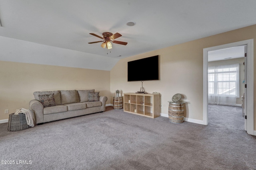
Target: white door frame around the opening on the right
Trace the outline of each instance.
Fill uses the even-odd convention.
[[[228,43],[224,45],[218,45],[214,47],[208,47],[203,49],[203,124],[208,125],[208,52],[218,49],[225,49],[230,47],[236,47],[240,45],[247,45],[247,57],[246,57],[246,78],[247,78],[247,133],[254,134],[254,74],[253,74],[253,39],[244,41],[238,41],[235,43]]]

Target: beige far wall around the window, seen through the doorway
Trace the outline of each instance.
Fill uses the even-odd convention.
[[[239,64],[239,94],[240,98],[236,98],[236,104],[242,104],[242,95],[244,94],[244,58],[228,59],[221,61],[208,62],[208,66],[220,66],[226,64]]]

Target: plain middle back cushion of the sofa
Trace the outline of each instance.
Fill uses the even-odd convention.
[[[61,104],[70,104],[80,102],[78,92],[76,90],[60,90]]]

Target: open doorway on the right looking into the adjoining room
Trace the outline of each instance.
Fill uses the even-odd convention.
[[[246,88],[245,45],[208,51],[208,121],[209,123],[236,122],[245,127],[242,96]],[[241,112],[241,113],[240,113]],[[219,117],[216,117],[218,115]],[[236,120],[237,119],[237,120]]]

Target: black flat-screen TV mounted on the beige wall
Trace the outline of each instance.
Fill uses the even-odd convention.
[[[128,62],[128,82],[159,80],[159,56]]]

